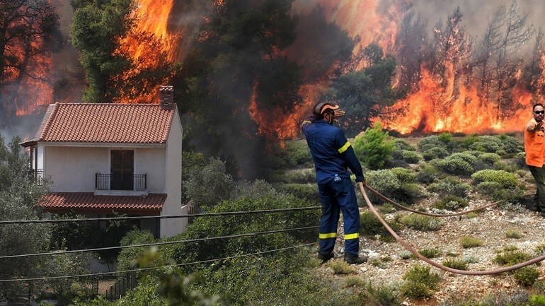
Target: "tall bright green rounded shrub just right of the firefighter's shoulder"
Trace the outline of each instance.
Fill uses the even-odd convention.
[[[354,151],[369,169],[377,170],[384,167],[386,160],[394,153],[394,141],[387,131],[382,131],[380,122],[372,128],[367,128],[365,134],[354,139]]]

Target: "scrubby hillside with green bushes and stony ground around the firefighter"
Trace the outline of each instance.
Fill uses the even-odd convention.
[[[352,140],[367,184],[400,204],[452,213],[507,199],[485,211],[435,218],[400,211],[368,192],[391,228],[420,254],[461,270],[497,269],[544,254],[542,217],[524,207],[535,189],[519,138],[445,133],[403,139],[379,128],[370,137],[369,131]],[[374,167],[376,159],[369,165],[365,157],[365,144],[377,139],[391,144],[384,146],[389,153],[377,153],[384,158],[380,168]],[[222,160],[185,153],[184,165],[190,165],[184,172],[185,194],[201,194],[188,201],[205,212],[287,211],[202,216],[168,240],[185,242],[152,252],[123,249],[120,269],[135,264],[159,268],[142,271],[136,290],[120,300],[74,305],[197,305],[199,300],[201,305],[545,305],[541,266],[494,276],[440,271],[395,242],[360,195],[360,251],[369,255],[369,262],[348,266],[342,261],[341,224],[336,258],[321,265],[316,259],[317,229],[312,228],[318,224],[319,208],[289,211],[319,206],[305,141],[287,141],[266,158],[265,180],[238,182],[226,174]],[[269,231],[274,233],[263,233]],[[223,238],[202,239],[207,237]],[[132,232],[124,243],[154,241]]]

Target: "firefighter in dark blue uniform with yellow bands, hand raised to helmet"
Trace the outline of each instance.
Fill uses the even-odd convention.
[[[322,203],[318,258],[322,262],[333,258],[339,213],[342,212],[345,261],[348,264],[362,264],[367,257],[358,256],[360,211],[348,168],[355,174],[356,182],[365,184],[365,177],[343,130],[333,126],[333,120],[344,114],[338,105],[320,102],[314,105],[313,115],[303,122],[302,130],[316,167],[316,182]]]

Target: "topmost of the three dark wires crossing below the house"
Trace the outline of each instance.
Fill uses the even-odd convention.
[[[308,211],[321,208],[321,206],[295,207],[295,208],[278,208],[278,209],[263,209],[260,211],[224,211],[219,213],[195,213],[195,214],[180,214],[180,215],[165,215],[165,216],[132,216],[132,217],[111,217],[111,218],[79,218],[79,219],[40,219],[40,220],[0,220],[2,224],[27,224],[27,223],[64,223],[64,222],[82,222],[82,221],[113,221],[113,220],[141,220],[141,219],[167,219],[167,218],[197,218],[211,216],[233,216],[246,215],[253,213],[281,213],[285,211]]]

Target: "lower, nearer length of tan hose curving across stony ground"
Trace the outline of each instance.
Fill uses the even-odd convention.
[[[545,255],[541,255],[539,257],[535,257],[535,258],[530,259],[528,261],[521,262],[520,264],[515,264],[515,265],[512,265],[512,266],[506,266],[506,267],[503,267],[503,268],[493,269],[493,270],[486,270],[486,271],[466,271],[466,270],[459,270],[459,269],[449,268],[448,266],[444,266],[444,265],[439,264],[439,263],[437,263],[435,261],[432,261],[431,259],[428,259],[428,257],[423,256],[414,247],[412,247],[410,244],[408,244],[408,242],[406,242],[401,237],[399,237],[399,235],[397,235],[397,233],[394,232],[394,230],[392,230],[390,228],[388,223],[386,223],[386,221],[380,216],[380,214],[374,208],[371,201],[369,201],[369,198],[367,197],[367,193],[365,193],[364,185],[362,184],[362,182],[359,182],[358,186],[360,187],[360,192],[362,192],[362,196],[365,199],[365,202],[367,203],[367,206],[372,211],[374,216],[377,217],[377,219],[380,221],[380,223],[384,226],[384,228],[386,228],[386,230],[388,230],[388,233],[390,233],[390,235],[392,235],[396,239],[396,241],[399,242],[399,244],[401,244],[403,247],[405,247],[415,257],[417,257],[418,259],[420,259],[422,261],[427,262],[428,264],[430,264],[432,266],[435,266],[435,268],[437,268],[437,269],[441,269],[443,271],[447,271],[447,272],[451,272],[451,273],[462,274],[462,275],[493,275],[493,274],[499,274],[499,273],[504,273],[504,272],[509,272],[509,271],[513,271],[513,270],[516,270],[516,269],[520,269],[520,268],[522,268],[524,266],[529,266],[531,264],[536,264],[537,262],[543,261],[545,259]],[[367,185],[365,185],[365,187],[368,188],[369,190],[371,190],[372,192],[374,192],[375,194],[379,195],[378,192],[374,191],[373,189],[371,189]],[[384,198],[386,198],[386,197],[384,196]],[[390,203],[392,203],[392,202],[390,202]],[[492,206],[492,205],[490,204],[489,206]],[[467,213],[467,212],[465,212],[465,213]],[[454,215],[450,215],[450,216],[454,216]]]

